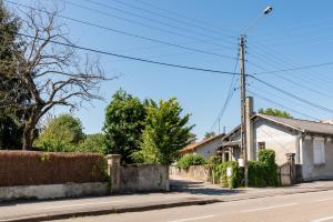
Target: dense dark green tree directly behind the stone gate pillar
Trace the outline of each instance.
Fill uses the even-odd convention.
[[[105,154],[121,154],[124,162],[133,162],[132,153],[140,149],[144,129],[145,105],[123,90],[113,94],[105,110]]]

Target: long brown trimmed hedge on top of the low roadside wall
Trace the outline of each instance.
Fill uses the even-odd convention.
[[[0,151],[0,186],[103,182],[105,170],[99,154]]]

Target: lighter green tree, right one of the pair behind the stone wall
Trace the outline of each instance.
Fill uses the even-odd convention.
[[[141,150],[133,154],[137,161],[170,164],[179,157],[179,151],[189,144],[194,127],[188,125],[190,114],[181,117],[181,113],[175,98],[148,108]]]

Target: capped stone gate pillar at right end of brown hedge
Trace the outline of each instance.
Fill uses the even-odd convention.
[[[111,193],[120,191],[120,154],[107,155],[108,161],[108,174],[111,178]]]

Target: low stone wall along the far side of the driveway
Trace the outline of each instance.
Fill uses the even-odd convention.
[[[180,176],[208,182],[211,180],[208,165],[191,165],[188,170],[170,167],[171,176]]]

